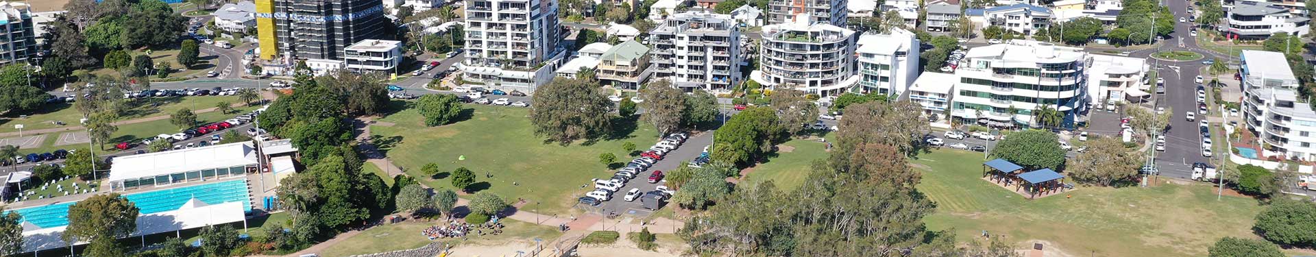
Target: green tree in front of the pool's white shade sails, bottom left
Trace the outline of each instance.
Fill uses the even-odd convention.
[[[137,229],[141,210],[117,192],[93,195],[68,206],[66,243],[91,241],[92,248],[118,249],[114,240]]]

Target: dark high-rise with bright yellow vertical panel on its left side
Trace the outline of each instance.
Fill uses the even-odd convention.
[[[384,40],[393,24],[379,0],[257,0],[263,59],[342,59],[363,40]]]

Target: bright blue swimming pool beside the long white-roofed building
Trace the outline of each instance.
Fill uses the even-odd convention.
[[[207,204],[241,202],[243,211],[251,211],[247,200],[247,185],[243,179],[229,179],[216,183],[175,187],[124,195],[133,202],[143,215],[174,211],[183,207],[188,199],[196,198]],[[68,206],[76,202],[13,210],[22,215],[21,221],[30,221],[42,228],[68,225]],[[5,212],[8,214],[8,212]]]

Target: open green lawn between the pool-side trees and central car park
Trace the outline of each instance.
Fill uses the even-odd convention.
[[[592,178],[607,178],[612,171],[599,162],[599,156],[612,153],[616,162],[626,162],[622,142],[647,145],[658,140],[650,125],[617,125],[624,138],[600,140],[567,146],[545,142],[534,136],[528,108],[467,104],[470,119],[442,127],[425,127],[416,109],[404,109],[378,120],[370,127],[380,152],[434,188],[454,188],[450,173],[467,167],[475,173],[475,191],[490,191],[509,202],[522,198],[542,203],[541,214],[565,214],[575,198],[584,194]],[[629,132],[629,133],[628,133]],[[465,161],[458,158],[465,156]],[[438,165],[438,177],[420,173],[425,163]],[[487,178],[486,174],[492,175]],[[517,183],[519,186],[513,186]],[[463,195],[465,196],[465,195]]]

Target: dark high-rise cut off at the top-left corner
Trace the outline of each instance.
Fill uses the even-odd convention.
[[[34,55],[36,32],[32,9],[25,3],[0,1],[0,65],[22,63]]]

